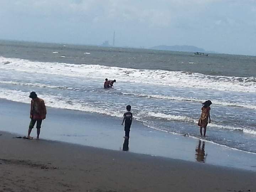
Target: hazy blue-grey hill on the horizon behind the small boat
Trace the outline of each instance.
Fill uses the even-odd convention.
[[[195,46],[165,46],[165,45],[161,45],[161,46],[154,46],[151,47],[150,49],[157,49],[157,50],[171,50],[171,51],[185,51],[185,52],[206,52],[204,49],[202,48],[198,48]]]

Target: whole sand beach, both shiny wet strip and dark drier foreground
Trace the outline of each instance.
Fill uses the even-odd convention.
[[[121,119],[49,107],[41,140],[15,138],[27,133],[29,105],[0,101],[1,192],[256,191],[254,154],[206,142],[198,155],[198,140],[138,122],[125,152]]]

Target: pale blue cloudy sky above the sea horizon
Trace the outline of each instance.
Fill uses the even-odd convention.
[[[0,39],[256,55],[256,0],[0,0]]]

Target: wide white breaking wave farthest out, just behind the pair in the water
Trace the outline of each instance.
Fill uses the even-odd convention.
[[[8,63],[10,62],[10,63]],[[155,85],[195,87],[226,91],[256,92],[255,77],[213,76],[200,73],[141,70],[110,67],[103,65],[76,65],[67,63],[32,62],[24,59],[0,57],[0,69],[26,71],[31,73],[58,74],[72,77],[102,79],[112,74],[123,82],[136,82]]]

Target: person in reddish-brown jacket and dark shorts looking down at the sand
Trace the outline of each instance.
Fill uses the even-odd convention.
[[[46,118],[46,106],[44,105],[44,100],[37,97],[36,92],[32,91],[29,96],[31,100],[31,107],[30,107],[30,125],[28,128],[28,139],[33,139],[33,137],[30,137],[30,133],[32,129],[34,128],[35,123],[37,123],[37,139],[39,139],[40,129],[42,120]]]

